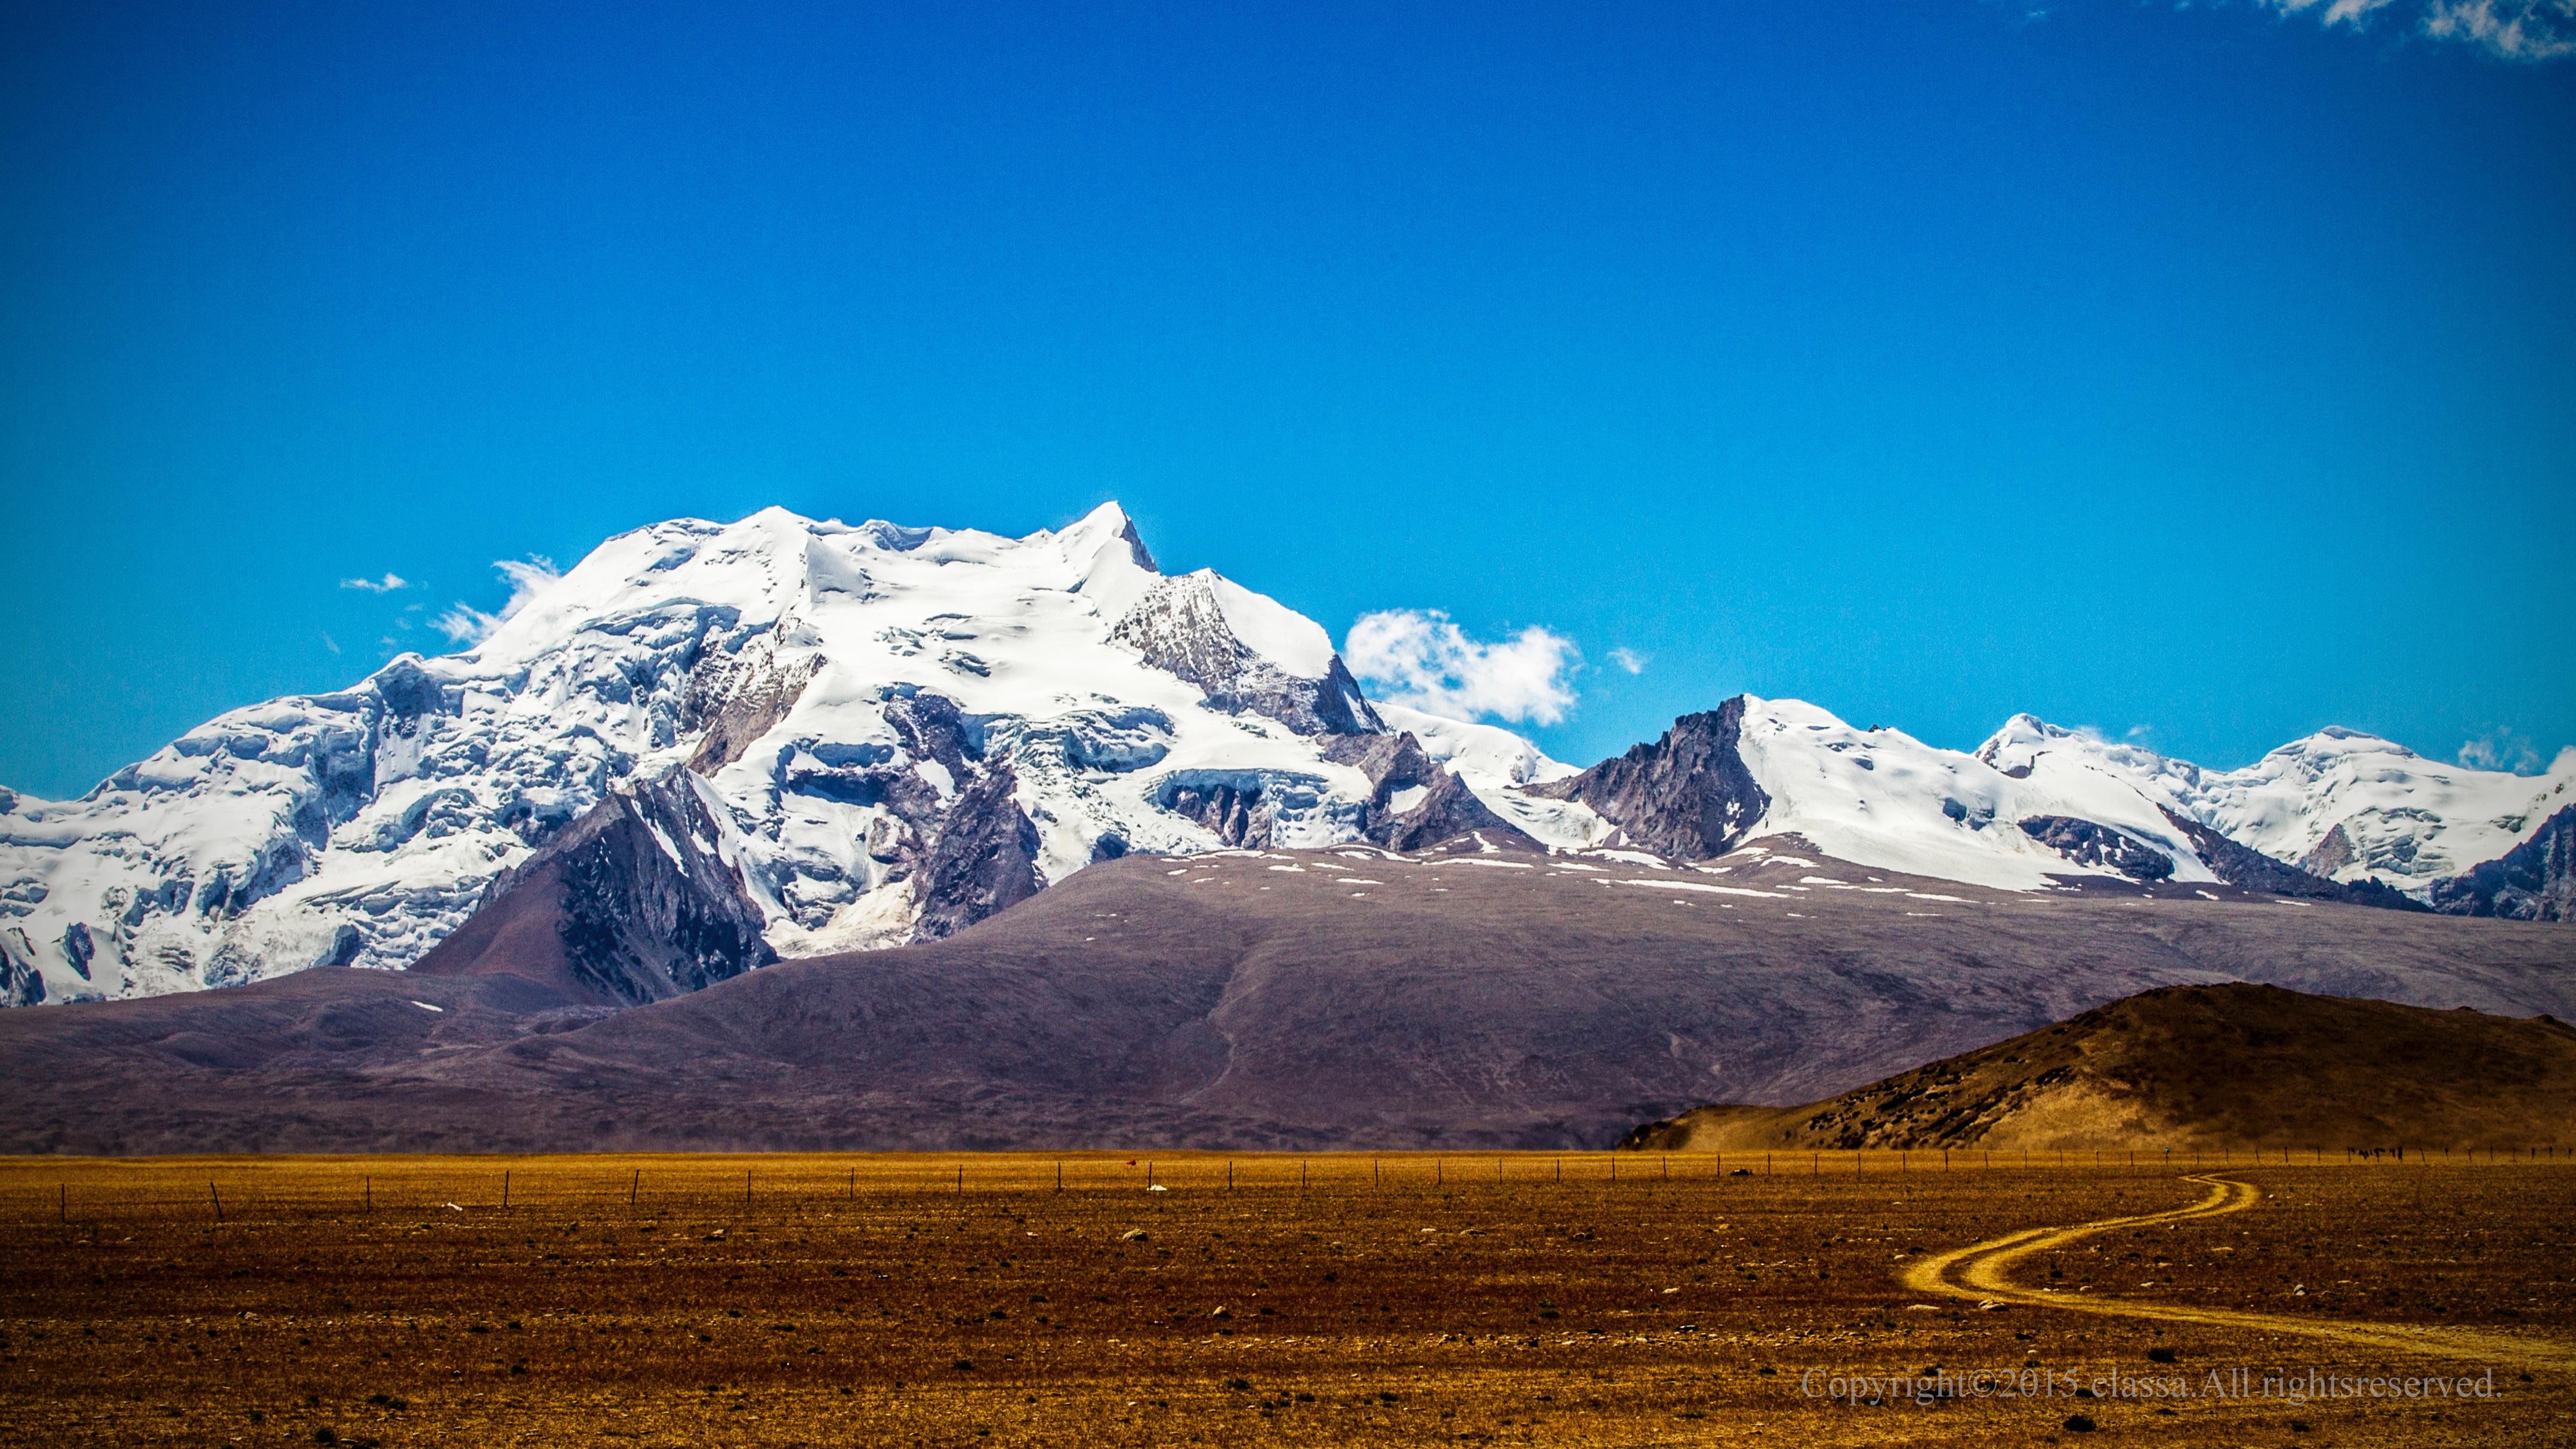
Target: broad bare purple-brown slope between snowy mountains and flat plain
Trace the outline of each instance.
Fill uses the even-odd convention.
[[[1728,874],[1471,843],[1126,856],[943,941],[631,1008],[484,941],[471,975],[0,1013],[0,1150],[1607,1145],[2159,985],[2576,1016],[2558,926],[1989,892],[1795,846]]]

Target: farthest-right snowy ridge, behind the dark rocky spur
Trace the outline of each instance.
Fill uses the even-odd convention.
[[[2066,789],[2120,781],[2272,859],[2414,895],[2509,853],[2576,804],[2576,750],[2561,750],[2548,773],[2517,776],[2427,761],[2357,730],[2321,730],[2239,771],[2205,771],[2014,714],[1976,755]]]

